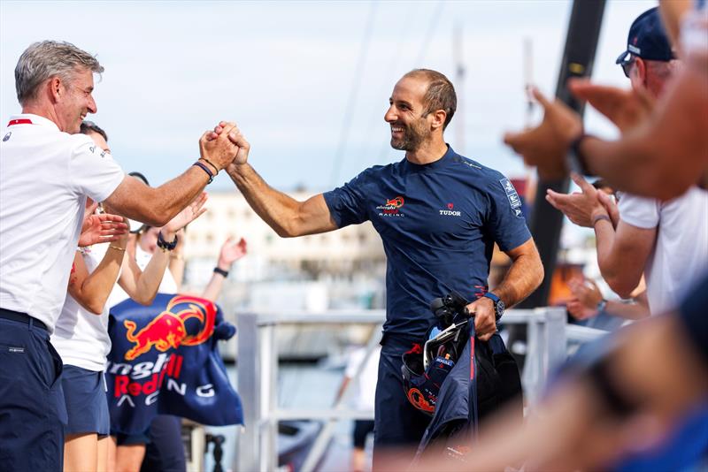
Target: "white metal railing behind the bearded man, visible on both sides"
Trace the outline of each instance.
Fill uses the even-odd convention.
[[[342,407],[346,391],[334,407],[317,410],[278,407],[278,346],[275,332],[282,324],[378,324],[384,310],[327,311],[312,313],[243,313],[238,324],[238,392],[243,403],[245,427],[237,435],[235,470],[270,472],[278,468],[278,422],[293,419],[326,421],[302,468],[311,472],[327,449],[334,424],[343,419],[373,419],[373,411],[361,412]],[[567,341],[587,342],[606,331],[566,324],[566,308],[511,309],[504,324],[527,324],[526,364],[521,376],[524,392],[531,403],[538,400],[548,374],[566,360]],[[366,357],[350,384],[357,381],[368,356],[381,338],[374,330]]]

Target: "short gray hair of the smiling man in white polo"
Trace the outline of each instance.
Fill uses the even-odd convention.
[[[15,67],[15,89],[19,103],[24,105],[27,100],[35,98],[42,82],[51,77],[71,81],[77,69],[104,72],[104,66],[98,63],[96,57],[71,42],[42,41],[30,44]]]

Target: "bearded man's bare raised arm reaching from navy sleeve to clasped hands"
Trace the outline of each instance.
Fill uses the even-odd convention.
[[[234,162],[227,167],[228,175],[241,190],[250,207],[279,236],[292,238],[337,229],[322,194],[298,202],[289,195],[275,190],[266,184],[258,172],[248,164],[250,144],[238,128],[228,132],[222,126],[217,126],[214,132],[219,133],[219,137],[228,134],[229,139],[239,148]]]

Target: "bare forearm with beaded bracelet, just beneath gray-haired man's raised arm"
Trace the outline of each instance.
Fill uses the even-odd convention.
[[[81,285],[70,286],[70,293],[74,300],[91,313],[101,315],[104,311],[105,303],[120,273],[120,265],[125,254],[124,246],[125,244],[121,245],[118,241],[112,243],[96,270],[91,272]]]

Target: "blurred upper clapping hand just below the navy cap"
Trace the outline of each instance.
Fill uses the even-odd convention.
[[[568,88],[609,118],[622,133],[642,123],[654,110],[655,100],[644,88],[628,90],[595,85],[589,80],[572,79]]]

